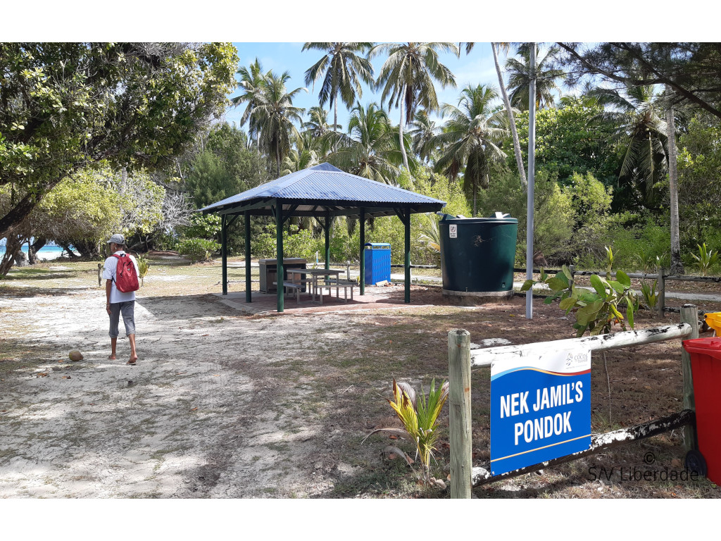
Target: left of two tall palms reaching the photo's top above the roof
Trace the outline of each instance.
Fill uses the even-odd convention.
[[[346,107],[363,97],[361,81],[373,84],[373,66],[365,55],[373,43],[309,42],[302,50],[322,50],[324,55],[306,70],[306,86],[323,79],[318,94],[320,106],[333,107],[333,126],[338,124],[338,97]],[[337,128],[334,128],[337,129]]]

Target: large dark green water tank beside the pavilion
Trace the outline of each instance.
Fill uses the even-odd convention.
[[[490,218],[445,214],[439,224],[446,296],[513,296],[518,220],[500,212]]]

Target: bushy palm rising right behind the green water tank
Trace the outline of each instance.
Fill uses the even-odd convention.
[[[473,193],[473,215],[477,211],[479,185],[488,183],[488,170],[494,160],[505,158],[499,144],[508,136],[508,117],[493,102],[498,93],[493,87],[468,85],[461,92],[459,107],[445,104],[441,110],[448,122],[433,142],[444,151],[435,161],[435,170],[455,178],[461,168],[466,193]]]

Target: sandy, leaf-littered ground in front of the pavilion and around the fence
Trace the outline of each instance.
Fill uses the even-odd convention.
[[[361,443],[373,428],[397,426],[384,400],[392,378],[417,388],[447,377],[454,327],[483,346],[572,335],[557,307],[534,304],[528,322],[523,298],[449,307],[438,289],[419,287],[416,306],[250,316],[211,293],[217,268],[195,265],[155,268],[146,278],[136,303],[140,360],[126,366],[125,339],[118,360],[107,359],[104,294],[85,266],[25,271],[0,284],[0,498],[447,497],[418,489],[404,462],[381,457],[399,442],[376,435]],[[198,290],[205,293],[187,294]],[[676,340],[609,353],[608,374],[594,364],[593,430],[609,429],[611,403],[612,428],[677,411],[680,347]],[[69,361],[73,349],[84,360]],[[489,459],[487,369],[474,372],[473,385],[480,464]],[[677,431],[474,493],[718,498],[708,481],[606,486],[588,477],[596,465],[640,465],[648,450],[681,467],[681,442]],[[448,448],[443,435],[436,475],[448,472]]]

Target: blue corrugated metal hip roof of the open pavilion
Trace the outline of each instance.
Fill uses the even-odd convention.
[[[200,210],[212,212],[242,208],[250,203],[271,199],[281,200],[283,203],[313,202],[315,206],[322,206],[324,202],[333,202],[335,203],[333,208],[336,209],[430,205],[437,206],[440,210],[446,204],[445,201],[351,175],[331,164],[323,163],[232,195]],[[268,201],[268,206],[270,204],[271,202]],[[322,209],[317,210],[322,211]]]

